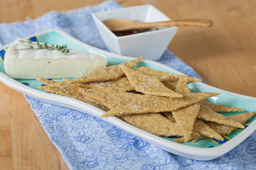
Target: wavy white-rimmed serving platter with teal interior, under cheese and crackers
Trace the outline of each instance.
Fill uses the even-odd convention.
[[[127,57],[127,56],[109,53],[105,50],[101,50],[101,49],[92,47],[90,45],[87,45],[61,30],[55,30],[55,29],[45,30],[25,38],[27,39],[36,38],[42,41],[43,43],[49,43],[49,44],[58,44],[58,45],[67,44],[68,48],[79,49],[87,53],[101,55],[108,60],[109,64],[119,64],[129,60],[134,60],[133,57]],[[10,44],[7,44],[1,47],[0,55],[1,55],[1,52],[4,53],[4,50],[9,46]],[[0,57],[0,59],[2,58]],[[185,75],[166,65],[163,65],[154,61],[149,61],[149,60],[142,60],[139,66],[147,66],[147,67],[150,67],[151,69],[156,69],[159,71],[172,72],[176,74]],[[45,91],[39,90],[37,86],[40,86],[40,85],[36,84],[36,80],[27,80],[34,85],[31,87],[26,86],[25,84],[22,83],[22,82],[26,82],[26,80],[15,80],[10,78],[8,75],[6,75],[3,69],[3,62],[1,63],[1,61],[0,61],[0,81],[2,81],[7,87],[17,90],[22,94],[34,97],[39,100],[46,101],[48,103],[52,103],[52,104],[63,106],[63,107],[68,107],[81,112],[86,112],[92,116],[97,116],[97,117],[105,113],[101,109],[94,107],[90,104],[84,103],[83,101],[79,101],[79,100],[65,97],[65,96],[54,95],[54,94],[50,94]],[[38,84],[41,84],[41,83],[38,83]],[[256,111],[256,98],[254,97],[234,94],[232,92],[211,87],[202,82],[189,83],[189,88],[191,89],[192,92],[205,92],[205,91],[221,92],[221,95],[207,99],[207,101],[211,101],[212,103],[218,103],[218,104],[223,104],[227,106],[243,108],[245,112]],[[238,113],[226,113],[227,116],[234,115],[234,114],[238,114]],[[227,140],[225,138],[224,142],[220,142],[216,140],[214,141],[210,139],[205,139],[202,141],[199,140],[198,142],[195,142],[195,143],[193,142],[175,143],[172,141],[173,140],[172,138],[158,137],[154,134],[135,128],[134,126],[128,123],[125,123],[116,117],[107,117],[107,118],[101,118],[101,119],[149,143],[152,143],[159,148],[162,148],[168,152],[171,152],[172,154],[183,156],[189,159],[196,159],[196,160],[211,160],[226,154],[228,151],[235,148],[237,145],[239,145],[239,143],[241,143],[247,137],[249,137],[249,135],[252,134],[253,131],[256,129],[256,121],[254,121],[255,120],[255,116],[254,116],[249,122],[246,122],[246,128],[244,130],[237,130],[233,134],[230,134],[230,136],[227,138],[230,140]]]

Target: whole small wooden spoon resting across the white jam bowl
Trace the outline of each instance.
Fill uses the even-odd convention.
[[[173,27],[173,26],[197,26],[197,27],[212,27],[213,22],[209,19],[179,19],[163,22],[137,22],[125,19],[109,19],[103,23],[111,31],[128,31],[135,29],[146,29],[155,27]]]

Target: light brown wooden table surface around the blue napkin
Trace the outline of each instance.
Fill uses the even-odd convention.
[[[36,19],[101,0],[0,0],[0,23]],[[209,18],[212,28],[179,28],[168,48],[213,86],[256,97],[256,1],[123,0],[151,4],[171,19]],[[27,102],[0,82],[0,169],[68,169]]]

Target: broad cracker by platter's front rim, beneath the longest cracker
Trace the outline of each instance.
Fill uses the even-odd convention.
[[[123,121],[149,133],[158,136],[182,136],[177,123],[174,123],[159,113],[142,113],[118,115]]]

